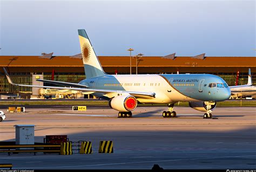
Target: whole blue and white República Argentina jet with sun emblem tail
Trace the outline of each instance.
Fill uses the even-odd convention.
[[[203,111],[204,118],[212,118],[216,103],[230,98],[227,83],[219,76],[211,74],[106,74],[97,58],[85,30],[78,30],[78,38],[86,79],[79,83],[37,80],[60,84],[64,87],[15,84],[4,68],[8,82],[22,87],[69,89],[87,92],[109,101],[109,106],[119,111],[118,118],[132,117],[138,103],[161,103],[168,105],[163,111],[166,117],[176,117],[174,103],[189,102],[190,107]],[[215,85],[215,86],[214,86]],[[214,86],[214,87],[213,87]]]

